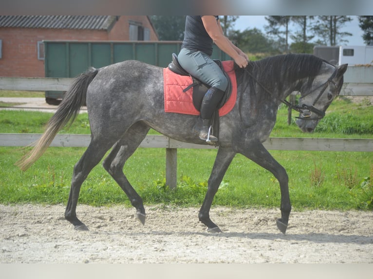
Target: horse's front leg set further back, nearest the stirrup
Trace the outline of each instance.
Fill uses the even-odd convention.
[[[235,155],[236,153],[232,150],[227,150],[221,147],[219,148],[218,154],[215,158],[215,163],[207,183],[208,187],[205,200],[198,214],[199,220],[207,226],[208,232],[222,232],[220,228],[211,221],[209,212],[214,196],[216,192],[218,192],[219,185],[223,180],[224,174]]]

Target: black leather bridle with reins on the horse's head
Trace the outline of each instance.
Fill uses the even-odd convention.
[[[272,92],[269,91],[266,87],[264,87],[246,68],[244,68],[244,70],[251,76],[253,80],[255,80],[264,89],[264,91],[266,91],[267,93],[273,96]],[[318,101],[318,99],[320,99],[320,97],[322,96],[326,88],[329,86],[329,84],[332,84],[337,88],[336,83],[333,81],[333,79],[336,77],[336,73],[337,73],[337,69],[335,69],[332,76],[323,84],[323,88],[321,89],[320,93],[318,94],[317,98],[315,99],[312,105],[305,105],[305,104],[302,104],[301,106],[293,105],[286,100],[281,100],[277,98],[276,96],[274,97],[278,99],[281,103],[287,105],[289,108],[294,109],[295,111],[298,111],[300,113],[300,117],[297,117],[298,119],[311,120],[309,119],[309,117],[311,117],[312,113],[316,113],[318,116],[318,119],[322,119],[325,116],[325,112],[317,109],[314,105],[316,105],[316,102]]]

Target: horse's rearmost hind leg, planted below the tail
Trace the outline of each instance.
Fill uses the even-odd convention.
[[[65,210],[65,219],[72,223],[77,230],[88,230],[88,228],[76,217],[76,205],[78,202],[80,187],[93,167],[100,162],[112,144],[113,142],[110,140],[92,139],[87,150],[74,166],[69,199]]]

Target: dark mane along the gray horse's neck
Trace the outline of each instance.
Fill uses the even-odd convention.
[[[281,91],[285,87],[285,82],[294,83],[303,78],[308,78],[310,87],[323,62],[323,59],[311,54],[283,54],[250,62],[247,70],[258,81],[266,81],[268,88],[277,87]],[[268,84],[268,81],[272,84]]]

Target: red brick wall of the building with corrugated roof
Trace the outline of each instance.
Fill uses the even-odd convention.
[[[129,20],[143,22],[150,40],[158,40],[145,16],[121,16],[112,30],[29,29],[0,27],[2,58],[0,76],[44,77],[44,60],[37,59],[37,41],[42,40],[129,40]]]

